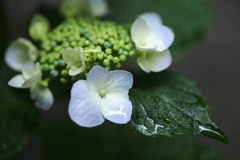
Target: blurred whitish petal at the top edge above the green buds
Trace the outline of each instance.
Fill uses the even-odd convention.
[[[105,0],[89,0],[91,13],[95,17],[104,16],[108,11],[108,6]]]

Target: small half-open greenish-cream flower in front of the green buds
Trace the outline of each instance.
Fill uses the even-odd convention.
[[[68,74],[76,76],[85,70],[84,51],[82,48],[79,50],[65,49],[62,53],[63,60],[70,67]]]

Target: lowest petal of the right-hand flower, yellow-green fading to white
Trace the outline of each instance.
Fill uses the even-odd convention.
[[[145,72],[160,72],[170,66],[172,56],[169,50],[163,52],[149,51],[138,58],[138,65]]]

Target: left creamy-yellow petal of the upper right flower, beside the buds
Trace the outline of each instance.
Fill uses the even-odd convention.
[[[131,37],[139,50],[154,50],[157,45],[146,21],[138,18],[131,28]]]

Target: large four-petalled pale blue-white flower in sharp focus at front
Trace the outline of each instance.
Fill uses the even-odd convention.
[[[127,123],[132,114],[132,103],[128,92],[133,77],[127,71],[107,71],[103,67],[93,67],[87,80],[74,83],[69,103],[70,118],[80,126],[94,127],[106,119]]]

